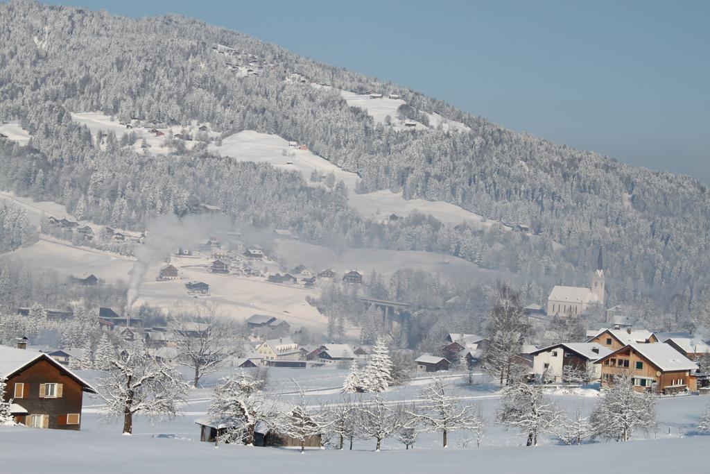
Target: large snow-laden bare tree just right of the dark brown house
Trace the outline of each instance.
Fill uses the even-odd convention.
[[[177,416],[187,391],[180,372],[155,360],[141,345],[124,348],[111,360],[108,373],[99,379],[99,392],[107,402],[105,416],[123,416],[124,434],[133,431],[135,414],[146,414],[151,419]]]

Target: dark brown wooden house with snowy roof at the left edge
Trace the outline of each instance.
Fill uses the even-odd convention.
[[[0,346],[0,377],[16,423],[33,428],[80,429],[84,392],[96,393],[49,355],[28,349]]]

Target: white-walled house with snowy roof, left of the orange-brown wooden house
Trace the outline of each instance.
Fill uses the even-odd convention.
[[[531,352],[532,373],[542,379],[550,377],[555,383],[574,382],[566,380],[564,367],[570,367],[589,379],[601,378],[601,366],[594,364],[600,357],[611,353],[611,349],[597,343],[559,343]]]

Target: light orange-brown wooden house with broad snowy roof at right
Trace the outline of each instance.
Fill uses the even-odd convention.
[[[671,345],[628,344],[596,361],[601,365],[601,387],[616,375],[629,374],[637,392],[674,394],[697,390],[698,366]]]

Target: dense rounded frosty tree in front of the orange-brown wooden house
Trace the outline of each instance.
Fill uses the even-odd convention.
[[[628,441],[636,430],[644,432],[655,427],[655,398],[633,389],[631,375],[617,375],[613,384],[591,412],[594,434],[600,438]]]

